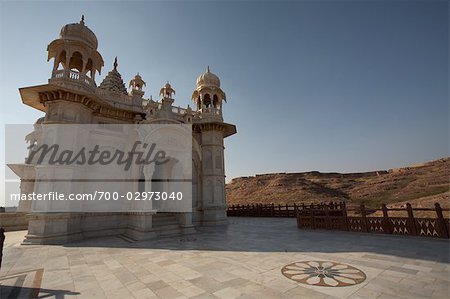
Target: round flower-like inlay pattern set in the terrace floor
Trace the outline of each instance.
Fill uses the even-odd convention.
[[[361,270],[330,261],[295,262],[284,266],[281,273],[296,282],[323,287],[351,286],[366,279]]]

